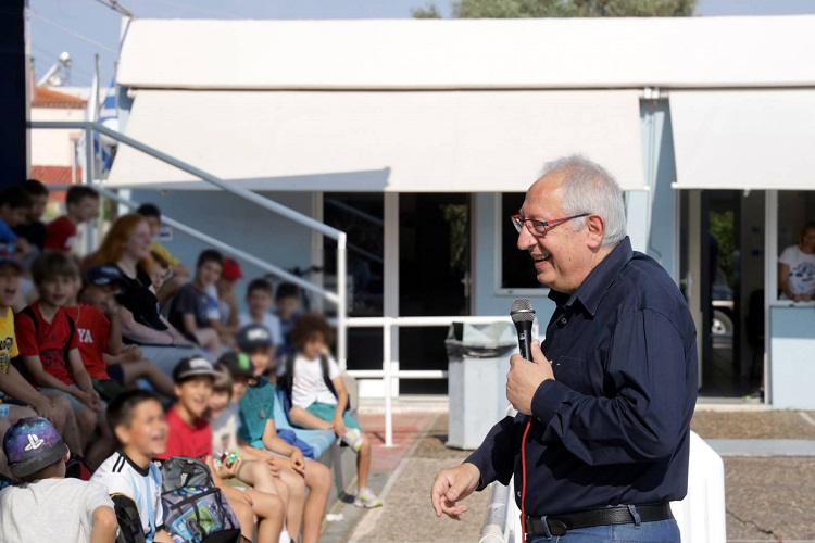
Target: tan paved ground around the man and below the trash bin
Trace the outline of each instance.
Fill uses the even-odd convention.
[[[383,416],[362,415],[363,426],[384,441]],[[693,430],[707,440],[750,449],[755,440],[815,442],[815,413],[739,409],[700,411]],[[444,446],[447,413],[409,411],[394,416],[398,446],[375,446],[372,480],[385,496],[379,509],[339,504],[343,520],[330,522],[324,543],[477,542],[488,495],[468,500],[468,518],[437,519],[429,504],[436,472],[464,459],[466,452]],[[743,441],[738,441],[743,440]],[[761,443],[766,443],[761,441]],[[783,441],[776,441],[783,446]],[[728,542],[815,542],[815,456],[725,456]]]

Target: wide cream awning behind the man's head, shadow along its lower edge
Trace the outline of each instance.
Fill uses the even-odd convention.
[[[635,90],[139,90],[125,132],[253,190],[525,191],[569,153],[644,186]],[[206,188],[195,180],[126,146],[109,178]]]

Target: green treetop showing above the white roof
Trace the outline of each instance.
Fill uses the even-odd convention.
[[[526,17],[681,17],[693,15],[698,0],[454,0],[455,18]],[[416,18],[439,18],[430,3],[413,10]]]

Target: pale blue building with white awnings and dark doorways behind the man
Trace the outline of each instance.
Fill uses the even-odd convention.
[[[348,231],[352,315],[505,315],[523,294],[546,321],[509,215],[543,162],[582,153],[626,190],[635,248],[682,282],[700,330],[716,306],[702,392],[740,396],[766,353],[772,402],[812,408],[815,311],[776,300],[776,257],[815,218],[813,50],[815,16],[137,20],[117,83],[126,135]],[[109,182],[333,273],[311,231],[143,153],[120,149]],[[380,333],[352,331],[349,367],[380,366]],[[401,367],[444,367],[443,337],[402,329]]]

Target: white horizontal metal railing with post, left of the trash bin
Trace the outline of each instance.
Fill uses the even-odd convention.
[[[393,371],[392,338],[393,328],[412,327],[429,328],[450,326],[453,321],[468,325],[488,325],[496,321],[512,323],[506,316],[443,316],[443,317],[350,317],[349,328],[383,329],[383,369],[351,369],[348,375],[358,379],[383,379],[385,387],[385,446],[393,445],[393,393],[392,380],[396,379],[446,379],[443,369],[400,369]]]

